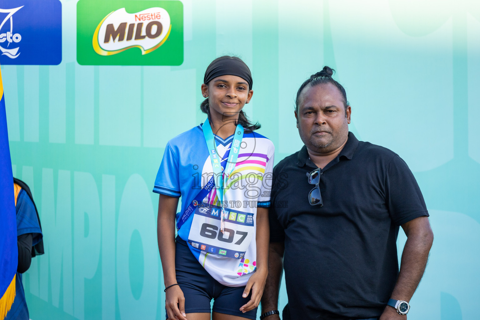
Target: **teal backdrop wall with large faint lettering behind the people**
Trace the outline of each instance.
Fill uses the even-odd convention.
[[[1,67],[13,174],[44,232],[46,253],[24,275],[32,320],[165,319],[153,183],[167,141],[203,122],[204,71],[223,54],[252,70],[244,110],[276,163],[302,146],[300,84],[336,69],[350,130],[407,162],[431,214],[408,319],[480,319],[479,1],[183,0],[184,60],[172,67],[79,65],[77,1],[61,2],[60,65]]]

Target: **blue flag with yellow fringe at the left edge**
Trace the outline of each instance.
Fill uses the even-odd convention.
[[[0,320],[5,318],[15,299],[17,264],[17,220],[12,160],[8,146],[7,115],[0,71]]]

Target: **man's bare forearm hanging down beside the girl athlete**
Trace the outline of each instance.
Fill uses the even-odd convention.
[[[283,252],[285,243],[270,242],[268,248],[268,276],[265,283],[264,295],[262,296],[262,314],[278,309],[278,292],[283,275]],[[278,315],[271,315],[265,319],[280,319]]]

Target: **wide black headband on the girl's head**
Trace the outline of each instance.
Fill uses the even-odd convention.
[[[249,90],[252,90],[252,73],[243,61],[237,59],[226,58],[210,63],[205,71],[204,83],[208,84],[212,79],[227,74],[242,78],[248,83]]]

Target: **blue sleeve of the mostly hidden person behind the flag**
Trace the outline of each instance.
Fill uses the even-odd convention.
[[[43,237],[42,230],[38,224],[35,206],[25,190],[20,190],[18,194],[15,211],[17,212],[17,236],[31,233],[32,245],[35,246]]]

